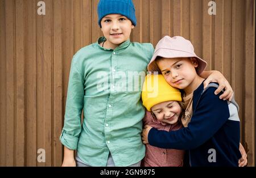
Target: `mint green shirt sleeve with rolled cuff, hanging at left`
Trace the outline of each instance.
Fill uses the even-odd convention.
[[[84,79],[76,65],[75,56],[71,63],[64,127],[60,135],[60,142],[71,150],[77,149],[77,143],[81,132],[81,112],[83,105]]]

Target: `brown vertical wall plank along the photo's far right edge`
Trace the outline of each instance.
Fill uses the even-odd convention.
[[[248,166],[255,166],[255,1],[245,3],[245,117],[244,141]]]

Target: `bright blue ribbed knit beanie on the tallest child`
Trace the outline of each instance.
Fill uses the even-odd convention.
[[[134,26],[137,24],[132,0],[100,0],[98,3],[98,24],[100,27],[101,19],[108,14],[121,14],[130,19]]]

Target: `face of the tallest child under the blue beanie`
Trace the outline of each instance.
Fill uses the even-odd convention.
[[[106,15],[101,20],[101,31],[107,39],[104,46],[115,49],[119,44],[129,39],[133,28],[131,20],[126,16],[120,14]]]

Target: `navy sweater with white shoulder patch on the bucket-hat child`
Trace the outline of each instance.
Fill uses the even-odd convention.
[[[219,99],[216,88],[193,92],[193,115],[187,128],[167,132],[152,128],[148,142],[164,149],[189,150],[190,166],[238,166],[240,120],[233,103]],[[203,92],[204,91],[204,92]]]

